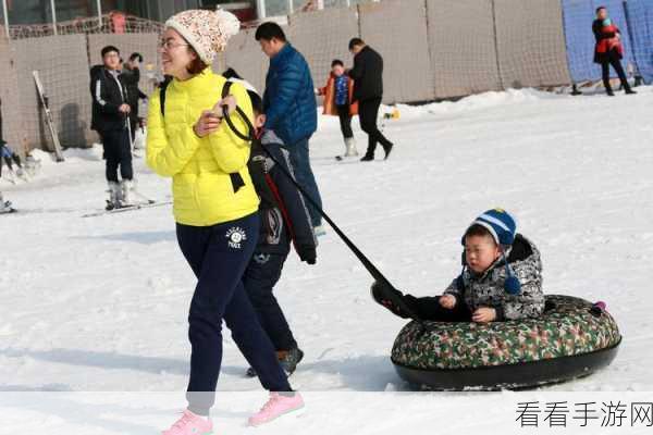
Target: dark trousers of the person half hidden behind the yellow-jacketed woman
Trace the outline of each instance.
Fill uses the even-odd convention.
[[[247,296],[276,350],[291,350],[297,347],[288,322],[272,293],[281,277],[286,257],[257,252],[243,275]]]

